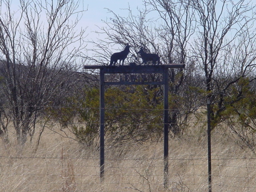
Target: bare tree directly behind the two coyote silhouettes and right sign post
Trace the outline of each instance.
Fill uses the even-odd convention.
[[[106,64],[110,58],[110,50],[117,44],[124,45],[129,42],[130,62],[141,63],[137,52],[142,47],[147,53],[156,53],[160,56],[162,64],[186,63],[187,69],[192,69],[193,64],[188,59],[188,41],[194,33],[193,11],[190,4],[183,1],[170,0],[145,0],[144,8],[133,10],[128,7],[124,11],[127,17],[115,14],[108,10],[112,17],[106,20],[105,26],[98,30],[98,34],[106,36],[105,39],[93,40],[95,49],[90,58],[99,64]],[[156,18],[150,18],[150,13],[156,13]],[[138,58],[139,61],[136,61]],[[192,71],[170,70],[170,94],[172,95],[169,122],[170,130],[176,135],[182,132],[182,122],[188,120],[188,114],[195,110],[196,106],[190,104],[188,110],[180,110],[184,94],[184,78],[191,76]],[[152,77],[159,78],[159,77]],[[188,82],[193,83],[193,82]],[[192,84],[190,84],[192,85]],[[189,87],[189,84],[186,84]],[[161,94],[161,92],[159,92]],[[184,99],[185,100],[185,99]],[[187,100],[186,100],[187,101]]]

